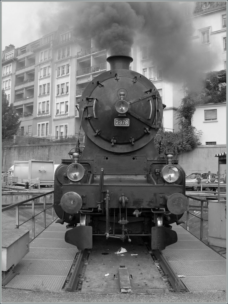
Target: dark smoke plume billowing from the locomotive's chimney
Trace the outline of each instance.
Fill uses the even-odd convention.
[[[193,7],[194,2],[190,3]],[[144,36],[148,46],[152,45],[154,64],[168,80],[183,80],[203,69],[202,51],[189,40],[181,2],[73,1],[55,5],[53,18],[49,16],[52,30],[65,23],[73,27],[74,36],[93,37],[95,46],[107,49],[110,55],[129,55],[136,37]]]

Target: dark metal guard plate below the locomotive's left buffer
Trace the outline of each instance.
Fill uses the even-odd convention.
[[[92,226],[77,226],[65,233],[65,242],[77,246],[78,249],[92,248]]]

